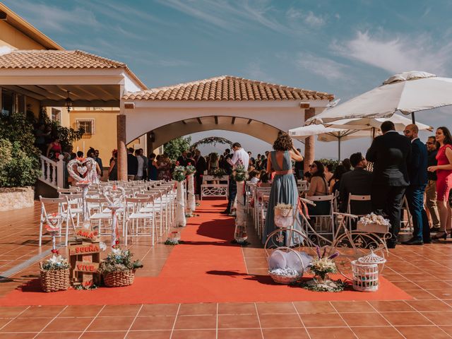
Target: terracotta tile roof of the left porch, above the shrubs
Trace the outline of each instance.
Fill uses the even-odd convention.
[[[83,51],[16,49],[0,54],[0,69],[124,69],[137,83],[146,85],[126,64]]]

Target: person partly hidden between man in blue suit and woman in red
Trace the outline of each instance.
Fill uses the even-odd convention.
[[[436,141],[434,136],[429,136],[427,139],[427,166],[438,165],[438,160],[436,160]],[[427,171],[427,187],[425,188],[425,205],[427,206],[426,212],[429,213],[432,219],[432,225],[430,230],[432,232],[439,231],[439,211],[438,205],[436,203],[436,172]]]

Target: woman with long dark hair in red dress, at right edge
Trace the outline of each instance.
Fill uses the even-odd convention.
[[[452,188],[452,136],[446,127],[438,127],[436,129],[436,160],[438,165],[430,166],[429,172],[436,171],[436,194],[439,206],[439,219],[441,222],[441,230],[432,237],[432,239],[446,239],[448,232],[452,229],[452,210],[448,203],[449,192]]]

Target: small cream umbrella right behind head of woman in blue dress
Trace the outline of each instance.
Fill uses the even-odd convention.
[[[299,141],[304,141],[308,136],[317,136],[319,141],[338,141],[338,159],[340,160],[340,142],[354,138],[364,138],[370,136],[369,131],[356,129],[338,129],[323,125],[308,125],[290,129],[289,136]]]

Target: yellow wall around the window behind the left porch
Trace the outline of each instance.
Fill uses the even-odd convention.
[[[69,113],[70,125],[73,129],[77,129],[76,119],[94,119],[95,132],[91,136],[83,136],[81,140],[73,143],[74,152],[83,150],[83,142],[85,142],[85,152],[90,147],[99,150],[100,158],[104,167],[108,167],[112,150],[117,148],[117,114],[119,112],[103,112],[103,111],[71,111]]]

